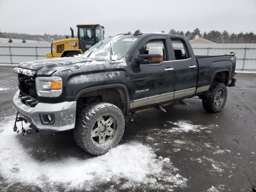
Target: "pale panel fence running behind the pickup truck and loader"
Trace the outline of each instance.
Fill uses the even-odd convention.
[[[236,70],[256,71],[256,44],[191,44],[191,46],[195,55],[224,55],[235,52]],[[46,53],[50,52],[50,43],[0,43],[0,64],[40,60],[46,58]]]

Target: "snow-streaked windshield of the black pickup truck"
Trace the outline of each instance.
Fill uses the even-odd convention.
[[[124,35],[110,37],[92,46],[82,57],[121,60],[136,40]]]

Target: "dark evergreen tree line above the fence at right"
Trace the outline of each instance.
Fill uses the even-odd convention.
[[[162,30],[161,32],[164,32]],[[224,30],[223,32],[220,32],[218,30],[211,30],[210,32],[201,32],[200,29],[196,28],[193,31],[179,31],[171,29],[169,34],[176,34],[176,35],[183,35],[188,38],[188,40],[195,39],[196,35],[199,35],[199,37],[204,38],[206,40],[212,41],[214,43],[256,43],[256,34],[253,32],[240,32],[238,34],[236,33],[229,33],[227,30]]]

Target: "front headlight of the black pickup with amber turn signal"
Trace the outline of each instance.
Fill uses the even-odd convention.
[[[37,77],[36,93],[42,97],[58,97],[62,93],[61,77]]]

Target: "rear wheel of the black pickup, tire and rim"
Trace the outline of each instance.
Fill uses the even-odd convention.
[[[222,92],[221,95],[223,97],[220,98],[220,96],[217,96],[219,92]],[[225,84],[218,83],[218,82],[212,83],[212,86],[210,87],[210,90],[209,90],[208,98],[202,100],[204,109],[211,113],[220,112],[226,104],[227,96],[228,96],[228,90]],[[219,105],[216,103],[219,103]]]

